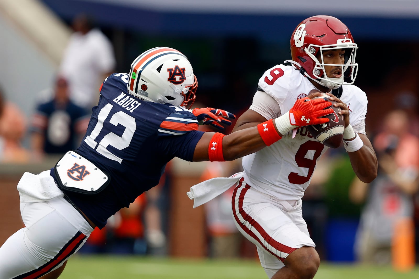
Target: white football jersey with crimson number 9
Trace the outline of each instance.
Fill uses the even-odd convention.
[[[257,103],[255,97],[250,109],[266,119],[286,113],[297,99],[306,97],[311,90],[318,91],[298,70],[285,65],[267,70],[258,86],[272,98],[259,98],[262,101]],[[365,92],[354,85],[342,85],[340,99],[349,107],[350,124],[354,131],[365,134]],[[276,103],[267,103],[269,100],[276,101],[279,107]],[[278,111],[269,109],[272,107]],[[274,144],[243,157],[245,181],[253,189],[280,200],[299,200],[310,184],[317,161],[327,148],[315,140],[305,127],[298,129],[295,138],[292,138],[292,132],[288,132]]]

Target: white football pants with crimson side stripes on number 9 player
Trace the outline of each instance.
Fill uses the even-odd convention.
[[[294,206],[252,189],[244,178],[234,189],[232,206],[236,227],[257,246],[259,260],[269,278],[282,267],[285,258],[297,248],[316,247],[310,238],[301,211]]]

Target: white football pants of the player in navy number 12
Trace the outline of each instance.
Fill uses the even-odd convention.
[[[93,228],[63,197],[21,203],[26,227],[0,247],[1,279],[36,279],[67,261]]]

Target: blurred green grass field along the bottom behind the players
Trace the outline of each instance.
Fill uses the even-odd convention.
[[[259,262],[149,257],[74,256],[60,279],[267,279]],[[391,267],[322,263],[316,279],[418,279],[419,267],[409,273]]]

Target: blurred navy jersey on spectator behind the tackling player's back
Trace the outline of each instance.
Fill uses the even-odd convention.
[[[42,103],[32,117],[32,132],[44,135],[45,153],[63,153],[80,144],[86,131],[88,113],[72,101],[59,105],[55,100]]]

